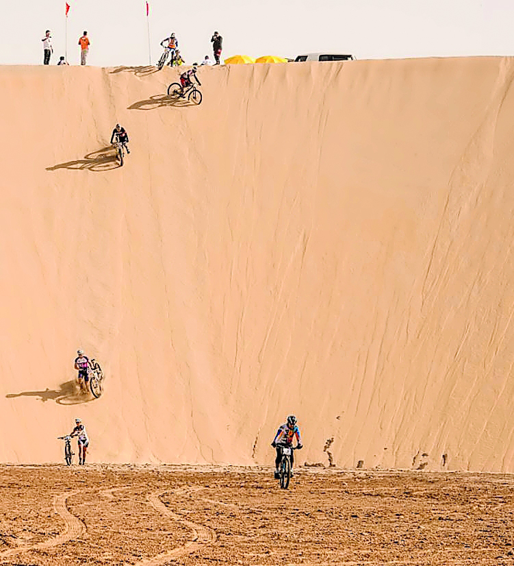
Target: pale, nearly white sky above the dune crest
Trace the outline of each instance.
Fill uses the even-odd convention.
[[[149,63],[144,0],[68,0],[68,61],[79,63],[79,36],[90,37],[88,63]],[[65,0],[3,0],[0,64],[41,64],[45,29],[64,55]],[[514,55],[514,0],[149,0],[151,60],[175,32],[186,62],[235,54],[294,58],[310,51],[358,59]]]

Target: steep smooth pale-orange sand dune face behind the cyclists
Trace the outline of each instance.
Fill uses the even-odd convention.
[[[0,68],[0,460],[514,471],[513,60],[176,77]]]

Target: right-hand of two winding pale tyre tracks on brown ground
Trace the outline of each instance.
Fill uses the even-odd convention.
[[[191,493],[192,491],[198,491],[202,489],[201,487],[197,488],[183,488],[177,489],[174,492],[175,495],[179,495],[180,493]],[[209,546],[214,541],[216,541],[216,532],[209,527],[205,527],[203,525],[199,525],[198,523],[193,523],[193,521],[188,521],[188,519],[184,519],[182,515],[178,513],[173,513],[170,508],[168,508],[164,503],[159,499],[161,495],[164,495],[168,490],[159,490],[153,491],[146,497],[146,501],[151,504],[151,506],[162,515],[166,515],[166,517],[170,517],[174,521],[185,525],[186,527],[192,530],[192,538],[190,541],[185,543],[185,545],[173,548],[172,550],[168,550],[166,552],[162,552],[161,554],[157,554],[157,556],[153,556],[152,558],[146,558],[142,560],[134,566],[162,566],[168,561],[170,558],[180,558],[181,556],[185,556],[186,554],[190,554],[195,550],[199,550],[201,547],[205,547],[206,545]]]

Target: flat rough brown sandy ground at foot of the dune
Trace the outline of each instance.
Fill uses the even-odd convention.
[[[0,563],[514,563],[514,476],[2,466]]]

